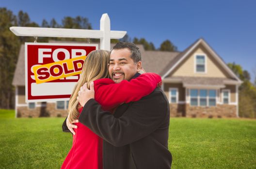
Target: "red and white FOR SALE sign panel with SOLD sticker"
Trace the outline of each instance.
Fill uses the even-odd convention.
[[[68,100],[97,44],[25,43],[26,101]]]

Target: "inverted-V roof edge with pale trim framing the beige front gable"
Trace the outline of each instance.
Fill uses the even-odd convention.
[[[220,65],[224,68],[224,70],[227,71],[227,73],[236,79],[239,83],[242,83],[242,81],[237,77],[237,75],[225,64],[224,60],[208,45],[207,42],[205,42],[204,39],[200,38],[196,40],[194,43],[192,43],[191,46],[189,46],[184,52],[182,52],[180,55],[178,55],[174,60],[170,61],[168,68],[169,70],[163,70],[162,79],[164,79],[168,74],[170,74],[175,68],[186,58],[189,56],[189,54],[192,52],[193,49],[195,49],[199,44],[202,44],[210,54],[220,63]]]

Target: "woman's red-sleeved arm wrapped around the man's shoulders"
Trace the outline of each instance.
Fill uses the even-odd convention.
[[[138,101],[149,95],[160,82],[161,77],[156,73],[144,73],[119,84],[111,79],[99,79],[94,82],[95,99],[104,110],[110,110],[124,102]]]

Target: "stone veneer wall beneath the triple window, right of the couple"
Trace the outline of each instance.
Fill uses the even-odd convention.
[[[217,104],[216,107],[200,107],[186,104],[186,117],[237,117],[237,106]]]

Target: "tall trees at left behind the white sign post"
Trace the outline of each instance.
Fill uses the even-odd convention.
[[[64,17],[63,25],[59,25],[53,18],[50,24],[44,19],[42,27],[47,28],[86,28],[92,29],[91,24],[86,17],[77,16]],[[20,45],[24,42],[33,42],[33,37],[17,37],[10,31],[10,27],[39,27],[35,22],[32,22],[29,15],[23,11],[19,11],[16,16],[12,11],[6,8],[0,8],[0,108],[14,108],[15,88],[12,86],[14,72],[17,63],[18,52]],[[79,38],[48,38],[39,37],[38,42],[48,42],[48,40],[59,41],[86,41]],[[97,42],[96,40],[95,42]],[[94,40],[92,40],[94,42]]]

